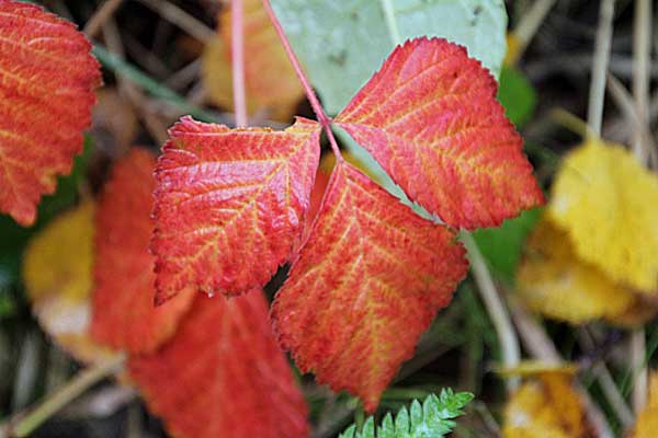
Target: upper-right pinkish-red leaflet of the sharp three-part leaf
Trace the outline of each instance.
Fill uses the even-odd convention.
[[[418,38],[393,51],[336,123],[447,224],[498,226],[544,198],[496,92],[466,49]]]

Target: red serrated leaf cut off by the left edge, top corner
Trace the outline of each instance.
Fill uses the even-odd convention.
[[[0,1],[0,211],[30,226],[82,151],[101,73],[84,35],[39,7]]]

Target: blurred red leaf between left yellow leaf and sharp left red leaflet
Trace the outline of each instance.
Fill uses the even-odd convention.
[[[93,337],[132,354],[155,350],[173,335],[194,291],[154,307],[155,257],[148,252],[156,158],[135,148],[113,169],[97,208]]]

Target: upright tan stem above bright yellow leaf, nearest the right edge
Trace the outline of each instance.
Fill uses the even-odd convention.
[[[651,56],[651,1],[635,1],[633,25],[633,96],[639,122],[648,125],[649,119],[649,58]],[[633,136],[633,151],[640,162],[646,162],[648,145],[642,131]]]

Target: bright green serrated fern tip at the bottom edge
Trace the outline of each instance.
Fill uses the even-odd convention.
[[[411,407],[402,407],[395,422],[390,413],[386,414],[382,425],[376,428],[375,420],[368,417],[363,429],[356,431],[352,425],[339,438],[442,438],[455,427],[453,418],[464,414],[462,408],[473,400],[468,392],[457,392],[451,389],[441,391],[441,395],[429,395],[422,405],[418,400]]]

